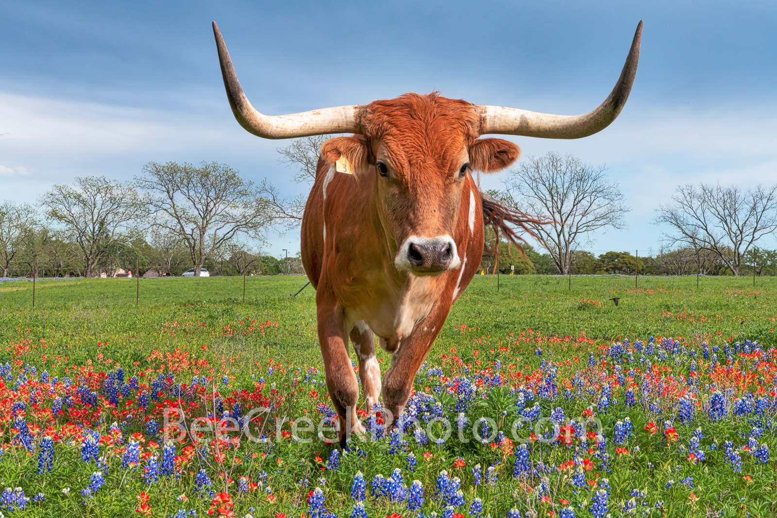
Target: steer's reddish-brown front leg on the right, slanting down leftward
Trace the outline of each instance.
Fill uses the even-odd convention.
[[[440,333],[445,318],[448,317],[448,311],[451,311],[451,290],[452,287],[445,290],[427,318],[416,324],[413,332],[399,342],[399,349],[392,353],[391,367],[383,378],[383,406],[387,413],[390,412],[386,415],[387,433],[394,428],[399,413],[407,404],[410,392],[413,390],[416,372],[427,357],[434,339]]]

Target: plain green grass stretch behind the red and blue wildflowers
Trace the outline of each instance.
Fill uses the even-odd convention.
[[[219,334],[223,325],[269,321],[278,327],[265,336],[217,338],[213,344],[245,358],[319,366],[315,291],[307,287],[297,297],[289,296],[305,281],[304,276],[249,277],[243,302],[241,277],[142,279],[136,306],[135,280],[44,280],[36,286],[34,311],[31,282],[0,284],[0,336],[8,345],[22,331],[28,338],[46,339],[48,353],[67,353],[75,360],[92,357],[101,342],[114,360],[124,362],[140,354],[138,346],[145,351],[190,346],[205,343],[204,337],[214,330]],[[585,333],[597,342],[650,335],[690,342],[720,336],[765,346],[777,340],[772,331],[777,326],[777,277],[759,278],[755,290],[751,278],[734,277],[702,277],[699,289],[695,277],[642,277],[637,291],[634,279],[622,276],[573,277],[571,291],[566,277],[559,276],[500,276],[498,283],[497,291],[497,277],[472,280],[451,309],[430,357],[451,347],[493,346],[510,339],[510,332],[528,329],[575,339]],[[612,297],[620,297],[617,307]],[[202,322],[207,330],[160,333],[166,322]],[[461,325],[471,331],[462,335]]]

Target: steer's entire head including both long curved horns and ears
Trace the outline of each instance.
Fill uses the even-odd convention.
[[[480,135],[580,138],[607,127],[629,97],[642,22],[615,88],[595,110],[577,116],[474,105],[437,94],[266,116],[243,93],[215,22],[213,30],[227,97],[240,125],[264,138],[357,134],[326,141],[323,157],[333,167],[344,159],[359,176],[375,175],[378,213],[397,250],[395,265],[429,275],[461,266],[453,235],[469,172],[499,171],[518,156],[515,144]]]

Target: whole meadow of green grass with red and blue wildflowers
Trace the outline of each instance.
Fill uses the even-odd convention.
[[[0,516],[777,513],[775,280],[478,276],[345,450],[304,277],[134,282],[0,281]]]

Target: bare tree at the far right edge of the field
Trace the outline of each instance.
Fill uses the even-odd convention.
[[[777,185],[743,190],[700,183],[678,186],[669,205],[657,209],[672,245],[713,252],[734,275],[754,243],[777,230]]]

